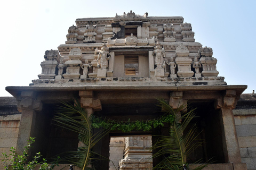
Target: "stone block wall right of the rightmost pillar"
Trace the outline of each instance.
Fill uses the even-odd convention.
[[[256,95],[242,94],[233,113],[242,162],[256,169]]]

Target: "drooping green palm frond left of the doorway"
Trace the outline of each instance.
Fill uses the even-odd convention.
[[[82,170],[94,169],[92,166],[95,160],[93,155],[97,153],[93,152],[92,148],[108,133],[109,129],[93,133],[93,116],[87,115],[86,110],[80,106],[78,101],[75,105],[64,102],[62,104],[63,106],[59,106],[53,120],[56,125],[78,133],[78,139],[84,143],[84,146],[78,147],[77,151],[65,152],[67,156],[61,157],[61,160],[72,163]]]

